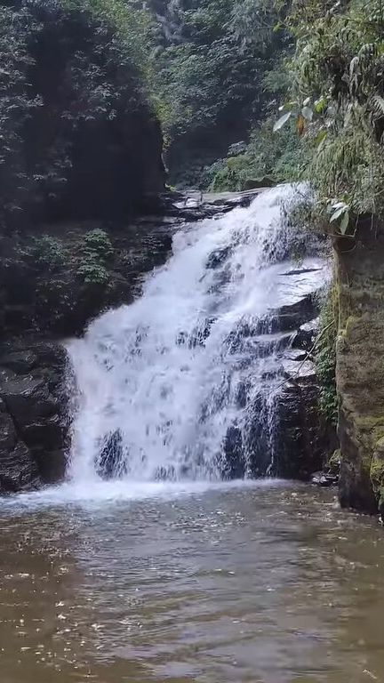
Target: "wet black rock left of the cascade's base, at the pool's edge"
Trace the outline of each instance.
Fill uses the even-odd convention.
[[[66,352],[55,343],[7,342],[0,358],[0,492],[33,490],[64,476]]]

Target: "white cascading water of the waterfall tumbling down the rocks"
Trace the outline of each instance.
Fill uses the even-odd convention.
[[[281,303],[292,239],[282,205],[295,193],[269,190],[248,208],[187,226],[140,299],[70,343],[78,394],[70,478],[214,479],[239,450],[246,471],[250,424],[263,411],[273,457],[278,381],[264,380],[278,374],[278,361],[260,346],[260,333]]]

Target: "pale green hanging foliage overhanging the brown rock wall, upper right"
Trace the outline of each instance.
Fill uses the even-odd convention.
[[[344,206],[333,231],[352,233],[360,214],[384,217],[384,4],[294,0],[288,22],[297,40],[290,99],[312,149],[308,175],[324,217]]]

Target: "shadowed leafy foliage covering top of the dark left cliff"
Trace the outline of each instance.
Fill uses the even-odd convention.
[[[1,222],[60,202],[85,128],[151,116],[149,23],[125,0],[0,6]]]

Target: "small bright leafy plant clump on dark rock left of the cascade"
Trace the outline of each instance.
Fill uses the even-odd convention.
[[[84,285],[106,287],[110,273],[108,261],[113,256],[111,241],[104,230],[94,229],[87,232],[80,245],[81,261],[77,269],[77,276]]]

